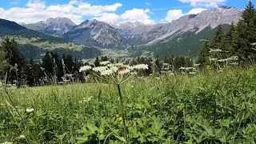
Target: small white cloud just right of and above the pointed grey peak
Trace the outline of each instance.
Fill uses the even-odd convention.
[[[101,21],[101,22],[115,24],[118,22],[119,18],[120,18],[120,16],[118,14],[104,13],[104,14],[102,14],[101,17],[92,18],[92,19],[97,19],[98,21]]]

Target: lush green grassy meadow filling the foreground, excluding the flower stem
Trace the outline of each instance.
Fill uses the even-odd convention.
[[[121,86],[130,143],[254,143],[256,69],[132,78]],[[0,142],[122,143],[115,86],[0,90]]]

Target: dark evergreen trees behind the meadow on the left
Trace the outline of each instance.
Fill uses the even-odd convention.
[[[59,56],[46,52],[42,61],[26,60],[18,50],[14,38],[4,38],[0,45],[0,80],[16,86],[42,86],[62,82],[69,75],[78,76],[82,62],[70,54]],[[81,78],[80,78],[81,79]]]

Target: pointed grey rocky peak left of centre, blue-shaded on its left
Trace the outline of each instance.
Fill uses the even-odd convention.
[[[122,36],[114,27],[97,20],[85,21],[67,32],[65,38],[89,46],[114,48],[123,46]]]

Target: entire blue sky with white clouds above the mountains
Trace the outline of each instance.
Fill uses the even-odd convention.
[[[67,17],[75,23],[100,21],[171,22],[184,14],[196,14],[216,6],[244,9],[248,0],[5,0],[0,18],[32,23],[47,18]]]

